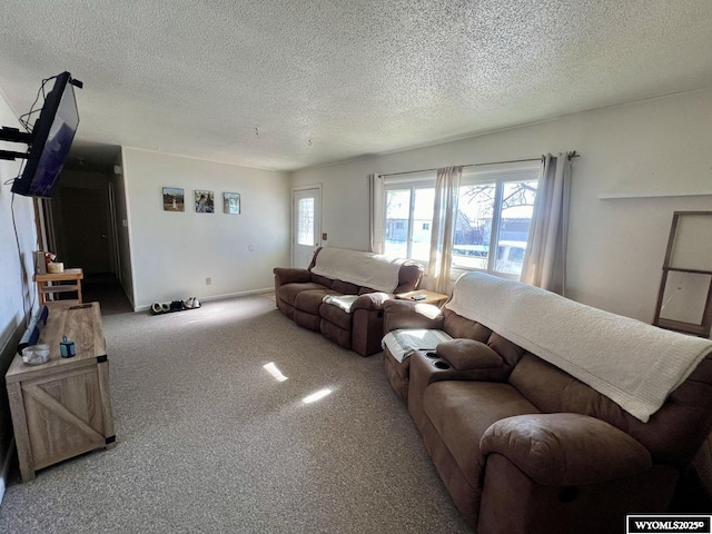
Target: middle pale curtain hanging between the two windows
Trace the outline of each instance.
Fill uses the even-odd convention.
[[[463,168],[437,169],[435,204],[431,227],[431,258],[427,266],[428,285],[437,293],[449,291],[449,269],[453,263],[453,237],[457,220],[457,197]]]

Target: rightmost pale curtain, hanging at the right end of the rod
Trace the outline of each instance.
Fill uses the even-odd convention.
[[[542,161],[522,281],[564,295],[571,199],[571,157],[546,155]]]

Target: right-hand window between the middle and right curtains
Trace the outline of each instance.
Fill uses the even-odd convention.
[[[453,268],[520,277],[537,182],[536,170],[463,175]]]

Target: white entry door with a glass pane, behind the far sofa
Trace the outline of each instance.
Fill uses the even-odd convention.
[[[322,188],[291,194],[291,266],[307,268],[322,243]]]

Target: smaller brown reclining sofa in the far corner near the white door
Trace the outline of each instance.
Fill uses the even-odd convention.
[[[353,284],[348,279],[329,278],[313,273],[322,250],[325,249],[317,249],[307,269],[274,269],[277,307],[297,325],[320,332],[327,339],[362,356],[380,352],[383,304],[394,294],[417,289],[423,267],[414,261],[398,261],[395,269],[397,281],[394,278],[393,291],[384,293]],[[364,261],[372,261],[376,258],[376,255],[370,253],[336,250],[355,260],[362,258]],[[334,255],[335,249],[329,248],[328,251]],[[336,270],[338,271],[338,268]],[[345,271],[344,277],[347,276]],[[347,312],[334,304],[325,303],[324,297],[327,295],[358,298],[350,303],[350,310]]]

